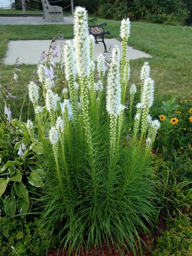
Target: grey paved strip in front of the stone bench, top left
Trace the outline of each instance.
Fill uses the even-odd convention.
[[[0,17],[0,25],[45,25],[45,24],[73,24],[73,17],[64,16],[64,22],[47,22],[43,16]]]

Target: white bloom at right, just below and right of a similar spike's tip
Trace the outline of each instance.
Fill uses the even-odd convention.
[[[141,103],[143,108],[150,108],[154,102],[154,81],[149,77],[145,79],[143,84],[143,92],[141,94]]]

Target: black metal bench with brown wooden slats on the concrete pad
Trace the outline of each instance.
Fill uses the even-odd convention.
[[[95,38],[95,43],[98,44],[98,42],[102,42],[104,47],[105,47],[105,52],[107,52],[107,47],[106,47],[106,44],[104,42],[104,35],[105,34],[108,34],[110,35],[111,33],[109,31],[105,31],[105,29],[103,28],[103,26],[107,26],[107,23],[102,23],[102,24],[99,24],[99,25],[95,25],[95,22],[97,18],[94,18],[94,19],[90,19],[88,20],[88,22],[92,22],[93,26],[88,26],[89,27],[89,33],[91,35],[94,36]],[[101,37],[102,41],[98,41],[97,40],[97,37]]]

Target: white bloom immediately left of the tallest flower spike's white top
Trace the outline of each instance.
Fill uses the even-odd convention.
[[[76,65],[75,65],[75,55],[72,43],[68,40],[64,45],[64,66],[65,66],[65,75],[67,81],[70,76],[73,76],[74,80],[76,77]]]

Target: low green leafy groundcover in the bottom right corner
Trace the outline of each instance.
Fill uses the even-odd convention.
[[[157,256],[190,256],[192,255],[192,213],[181,215],[181,219],[169,219],[167,230],[161,231],[157,239],[156,250],[152,255]]]

